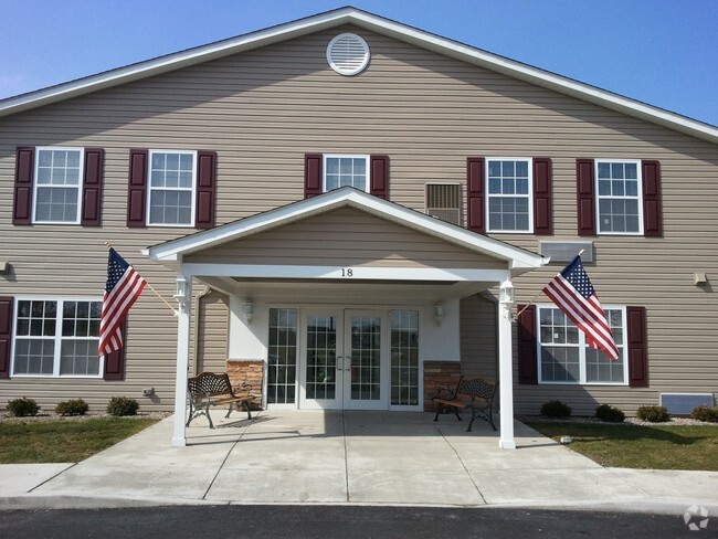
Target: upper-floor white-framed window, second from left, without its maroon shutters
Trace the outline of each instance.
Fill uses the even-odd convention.
[[[147,224],[194,225],[196,151],[151,150]]]

